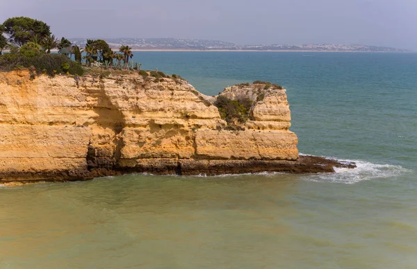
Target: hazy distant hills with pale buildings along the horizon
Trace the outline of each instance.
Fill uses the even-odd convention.
[[[272,44],[272,45],[236,45],[218,40],[183,40],[177,38],[107,38],[106,42],[118,49],[129,45],[137,50],[231,50],[231,51],[357,51],[357,52],[409,52],[383,46],[340,45],[340,44]],[[85,46],[85,38],[72,38],[78,46]]]

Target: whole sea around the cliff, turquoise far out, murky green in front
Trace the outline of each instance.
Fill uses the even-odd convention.
[[[417,268],[417,54],[135,52],[204,94],[287,89],[334,174],[123,175],[0,188],[0,268]]]

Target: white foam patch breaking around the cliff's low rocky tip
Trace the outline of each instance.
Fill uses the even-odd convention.
[[[316,182],[336,182],[344,184],[354,184],[363,180],[374,180],[378,178],[398,177],[411,171],[399,165],[373,164],[361,160],[339,160],[343,163],[354,162],[357,168],[334,168],[336,173],[323,173],[309,175],[307,180]]]

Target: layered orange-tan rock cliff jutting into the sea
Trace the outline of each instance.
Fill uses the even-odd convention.
[[[299,157],[285,90],[262,87],[221,94],[259,100],[250,119],[230,130],[212,105],[217,97],[179,78],[0,73],[0,182],[333,171],[336,162]]]

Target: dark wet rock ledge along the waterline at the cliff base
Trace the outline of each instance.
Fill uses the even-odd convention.
[[[37,182],[69,182],[76,180],[91,180],[94,177],[108,175],[122,175],[125,173],[152,173],[155,175],[224,175],[224,174],[243,174],[243,173],[334,173],[334,167],[337,168],[356,168],[354,162],[343,163],[336,159],[327,159],[325,157],[302,155],[295,161],[262,161],[262,160],[195,160],[180,159],[174,162],[167,159],[161,162],[157,159],[154,165],[141,165],[131,169],[122,170],[93,170],[90,173],[32,173],[16,172],[15,175],[8,174],[8,180],[0,180],[0,184],[13,186],[16,182],[37,183]],[[0,173],[1,177],[1,173]],[[38,180],[33,180],[38,177]]]

